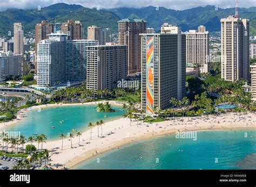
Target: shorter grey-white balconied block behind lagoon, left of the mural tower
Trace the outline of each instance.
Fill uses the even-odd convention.
[[[87,46],[87,89],[113,90],[114,83],[125,80],[126,76],[127,45]]]

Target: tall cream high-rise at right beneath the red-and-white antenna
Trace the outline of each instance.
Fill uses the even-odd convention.
[[[238,16],[221,21],[221,78],[225,81],[251,79],[250,25],[248,19]]]

